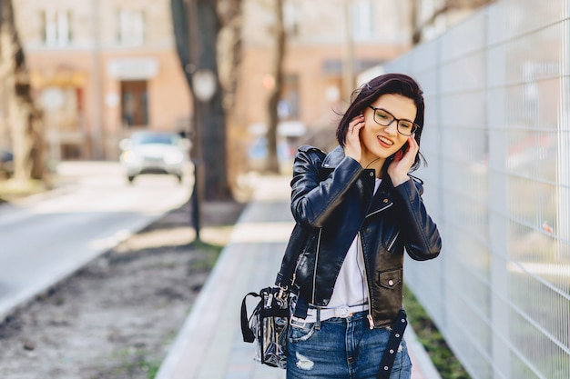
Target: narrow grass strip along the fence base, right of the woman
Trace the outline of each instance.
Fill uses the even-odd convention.
[[[407,286],[404,286],[404,304],[413,331],[417,334],[427,354],[430,355],[442,379],[471,379],[445,342],[443,334],[433,324],[429,314],[425,312],[422,304]]]

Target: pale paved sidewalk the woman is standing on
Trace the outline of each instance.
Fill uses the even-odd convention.
[[[289,177],[262,176],[256,193],[219,256],[156,379],[283,379],[285,371],[253,361],[254,345],[239,326],[243,296],[272,285],[293,228]],[[255,300],[248,304],[253,309]],[[440,379],[415,339],[405,338],[412,355],[412,379]]]

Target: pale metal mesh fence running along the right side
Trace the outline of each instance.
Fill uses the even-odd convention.
[[[424,89],[443,236],[406,283],[473,378],[570,378],[570,0],[499,0],[386,70]]]

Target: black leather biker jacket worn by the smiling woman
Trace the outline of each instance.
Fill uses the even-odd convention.
[[[422,183],[392,186],[388,177],[375,195],[375,172],[344,155],[301,146],[291,180],[291,211],[308,240],[297,261],[294,284],[312,306],[326,306],[354,237],[359,234],[370,294],[369,321],[394,323],[402,308],[404,247],[412,259],[435,258],[442,246],[422,202]]]

